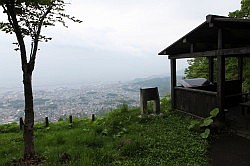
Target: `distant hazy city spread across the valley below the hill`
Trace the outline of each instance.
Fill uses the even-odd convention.
[[[160,96],[170,91],[170,78],[143,78],[126,83],[94,84],[78,88],[57,87],[40,88],[33,92],[35,121],[65,119],[103,115],[122,104],[129,107],[139,106],[140,88],[158,87]],[[24,118],[24,94],[22,90],[0,92],[0,123],[18,122]]]

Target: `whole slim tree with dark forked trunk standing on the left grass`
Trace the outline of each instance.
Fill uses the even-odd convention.
[[[42,27],[55,26],[57,22],[65,24],[65,18],[74,22],[81,22],[67,14],[64,14],[64,0],[0,0],[3,13],[8,20],[0,22],[0,30],[15,34],[17,42],[16,51],[20,52],[23,72],[24,97],[25,97],[25,121],[24,121],[24,157],[35,156],[34,147],[34,109],[32,92],[32,72],[39,42],[47,42],[51,37],[41,34]],[[27,37],[31,44],[29,56],[27,54]]]

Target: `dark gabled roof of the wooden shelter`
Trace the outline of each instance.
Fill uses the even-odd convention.
[[[207,15],[205,22],[165,48],[159,55],[178,59],[192,57],[191,53],[218,50],[218,29],[222,29],[223,49],[250,47],[249,19]]]

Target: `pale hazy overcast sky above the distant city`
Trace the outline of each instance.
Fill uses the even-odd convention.
[[[157,54],[205,21],[227,16],[240,0],[65,0],[66,12],[83,23],[43,29],[33,82],[38,85],[124,81],[169,73],[167,56]],[[0,20],[6,17],[0,11]],[[0,87],[22,86],[15,36],[0,32]],[[178,69],[187,66],[177,61]]]

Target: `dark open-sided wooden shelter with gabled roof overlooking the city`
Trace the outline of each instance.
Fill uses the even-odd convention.
[[[224,117],[226,108],[241,102],[243,95],[243,58],[250,55],[250,20],[207,15],[205,22],[161,51],[159,55],[168,55],[170,59],[171,98],[174,109],[206,117],[213,108],[218,107]],[[189,88],[177,86],[176,60],[196,57],[207,57],[208,79],[212,84]],[[237,80],[225,80],[227,57],[235,57],[238,60]]]

